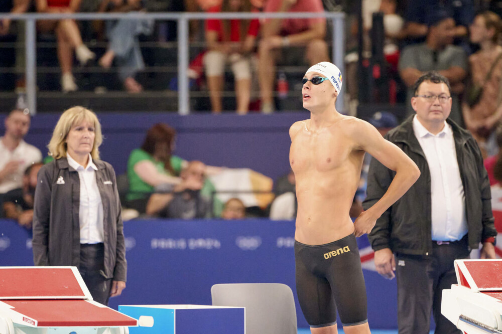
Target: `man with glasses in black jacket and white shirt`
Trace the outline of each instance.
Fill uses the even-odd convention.
[[[436,334],[460,333],[441,314],[442,290],[457,283],[453,261],[469,258],[479,243],[481,258],[495,258],[490,184],[476,141],[448,118],[448,79],[437,72],[422,75],[411,105],[415,115],[385,137],[418,165],[421,176],[368,237],[376,271],[397,276],[399,333],[428,333],[431,309]],[[393,178],[393,171],[371,160],[365,209],[384,196]]]

